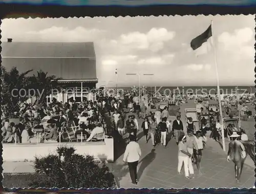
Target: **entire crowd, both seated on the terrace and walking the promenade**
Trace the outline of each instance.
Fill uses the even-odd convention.
[[[168,120],[169,112],[165,106],[163,110],[157,107],[152,112],[154,103],[138,103],[133,95],[121,99],[112,96],[96,98],[97,100],[86,100],[77,104],[74,100],[67,103],[53,100],[48,106],[21,103],[19,105],[18,119],[19,123],[10,122],[6,117],[3,118],[3,137],[6,143],[31,143],[34,136],[40,132],[40,142],[59,142],[70,141],[70,137],[65,138],[63,131],[65,127],[74,129],[74,139],[85,141],[100,141],[103,138],[112,136],[117,132],[122,138],[128,137],[126,141],[126,150],[124,153],[124,162],[128,162],[130,175],[133,184],[137,184],[137,165],[141,156],[140,146],[137,143],[138,131],[143,131],[144,141],[148,143],[151,139],[152,147],[158,145],[166,147],[167,140],[174,138],[178,146],[178,173],[181,173],[181,167],[184,166],[185,179],[194,178],[195,164],[201,174],[200,163],[202,159],[202,150],[206,147],[206,133],[211,130],[210,138],[220,141],[221,125],[218,118],[218,112],[212,114],[209,119],[202,117],[199,130],[196,130],[192,118],[187,118],[187,134],[184,133],[183,123],[180,115],[174,121]],[[128,111],[127,111],[128,110]],[[132,113],[132,114],[131,114]],[[139,126],[138,119],[143,122]],[[236,134],[234,134],[236,133]],[[125,136],[125,134],[127,134]],[[237,159],[238,143],[240,138],[247,141],[248,137],[242,128],[237,129],[229,124],[225,128],[226,137],[230,140],[228,160],[236,164],[237,181],[239,181],[242,171],[242,161],[244,158]],[[98,137],[101,138],[98,138]],[[119,140],[118,140],[119,141]],[[234,148],[236,147],[236,148]],[[244,149],[241,146],[241,152]],[[234,159],[235,158],[235,159]]]

